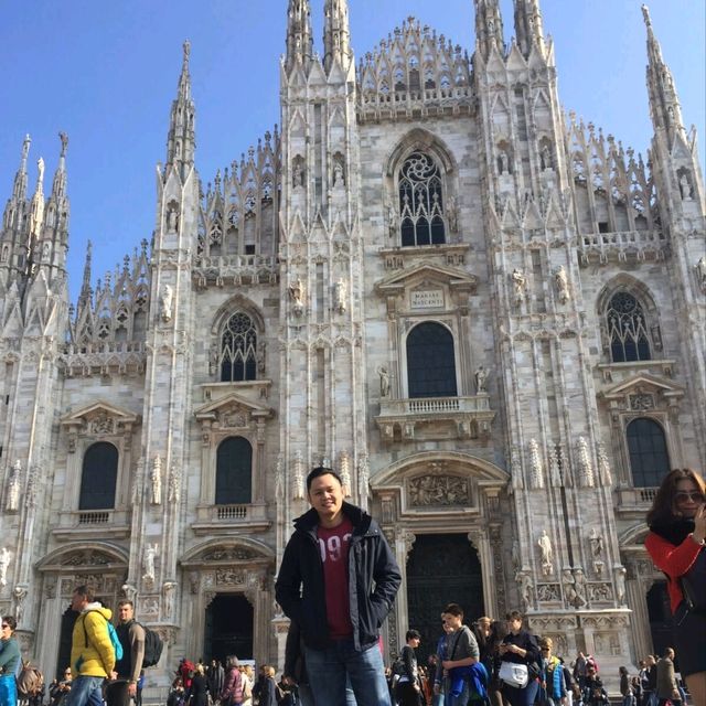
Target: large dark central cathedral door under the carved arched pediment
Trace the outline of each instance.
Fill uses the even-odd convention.
[[[466,534],[418,534],[407,563],[407,605],[409,628],[421,633],[420,664],[436,651],[441,610],[451,602],[461,606],[468,624],[484,613],[478,553]]]

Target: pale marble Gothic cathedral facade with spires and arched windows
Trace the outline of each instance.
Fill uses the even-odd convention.
[[[706,467],[704,183],[646,9],[643,160],[559,107],[538,0],[474,0],[469,53],[408,20],[353,56],[347,3],[290,0],[281,129],[204,190],[189,44],[143,242],[67,295],[67,138],[25,140],[0,233],[0,610],[46,674],[74,586],[180,656],[282,665],[274,579],[312,466],[403,570],[385,628],[434,644],[521,608],[601,668],[663,646],[642,546]],[[49,191],[49,190],[47,190]]]

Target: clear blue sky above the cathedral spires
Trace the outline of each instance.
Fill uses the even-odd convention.
[[[645,152],[652,128],[640,0],[542,0],[555,40],[566,109]],[[703,0],[652,0],[650,11],[704,164],[705,25]],[[502,0],[505,38],[512,0]],[[312,0],[317,50],[323,0]],[[45,189],[69,138],[69,274],[75,301],[86,242],[94,281],[154,227],[154,164],[164,160],[169,110],[182,42],[189,39],[196,103],[196,165],[211,181],[279,121],[279,56],[287,0],[0,1],[0,199],[10,195],[22,139],[32,136]],[[360,58],[409,15],[472,51],[472,0],[352,0],[352,45]]]

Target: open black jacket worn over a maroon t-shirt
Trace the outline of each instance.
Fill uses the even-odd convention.
[[[347,567],[350,614],[353,644],[361,650],[377,641],[402,575],[377,523],[350,503],[343,503],[343,513],[353,524]],[[275,586],[277,602],[299,623],[304,644],[313,650],[331,644],[318,525],[319,515],[313,507],[295,521],[295,533],[285,549]]]

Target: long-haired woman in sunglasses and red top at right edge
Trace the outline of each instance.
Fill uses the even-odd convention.
[[[648,513],[645,547],[668,578],[674,646],[695,704],[706,704],[706,483],[692,469],[666,475]]]

